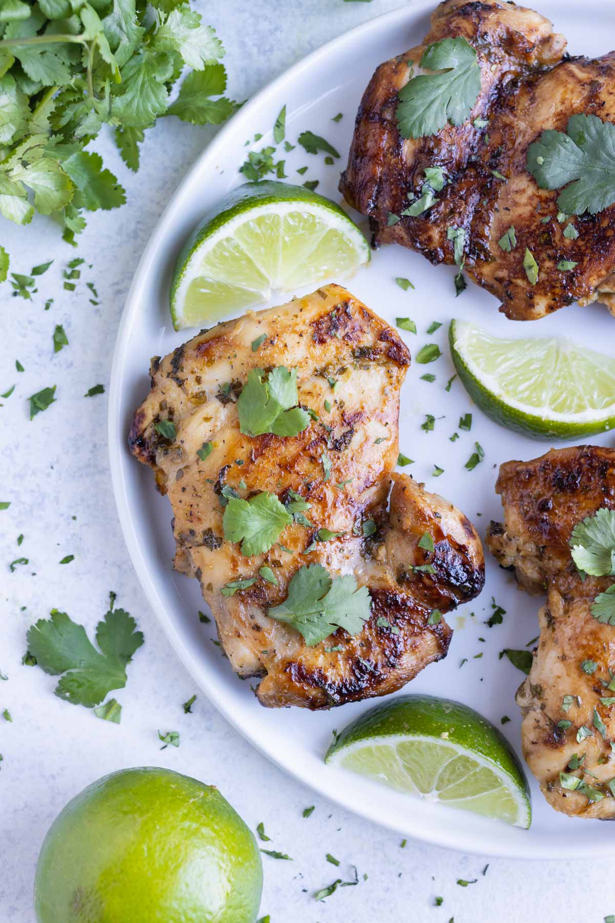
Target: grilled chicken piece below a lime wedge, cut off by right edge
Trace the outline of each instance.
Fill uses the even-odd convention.
[[[529,676],[517,691],[524,714],[523,751],[550,805],[575,817],[611,819],[615,798],[607,782],[615,776],[615,706],[600,699],[609,671],[615,670],[615,629],[592,617],[590,606],[609,578],[577,573],[568,545],[577,522],[600,507],[615,509],[615,450],[596,446],[550,450],[532,462],[506,462],[496,491],[502,496],[504,523],[491,522],[487,544],[502,567],[514,569],[529,593],[547,593],[538,613],[540,638]],[[585,673],[584,661],[597,664]],[[603,685],[603,681],[605,685]],[[578,696],[567,712],[565,695]],[[606,740],[594,724],[594,710],[606,726]],[[568,728],[558,726],[571,721]],[[590,737],[578,742],[579,728]],[[591,803],[560,785],[574,754],[585,755],[585,781],[604,797]],[[578,772],[576,774],[579,774]]]

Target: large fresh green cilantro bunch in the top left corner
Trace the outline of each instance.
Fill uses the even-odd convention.
[[[57,215],[74,244],[86,210],[124,189],[85,150],[105,123],[136,171],[146,128],[162,115],[218,125],[235,109],[210,26],[176,0],[0,0],[0,214]],[[183,67],[175,102],[170,94]]]

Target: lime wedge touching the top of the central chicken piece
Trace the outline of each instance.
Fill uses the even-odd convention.
[[[335,202],[303,186],[247,183],[183,246],[171,282],[175,330],[216,321],[325,279],[348,276],[370,247]]]

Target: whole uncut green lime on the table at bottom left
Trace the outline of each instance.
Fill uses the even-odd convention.
[[[213,785],[167,769],[103,776],[69,801],[36,868],[38,923],[254,923],[254,835]]]

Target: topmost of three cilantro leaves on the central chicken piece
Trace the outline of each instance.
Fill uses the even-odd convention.
[[[298,436],[310,424],[309,414],[296,406],[298,400],[296,368],[278,366],[266,380],[262,369],[252,369],[237,402],[242,433]]]

